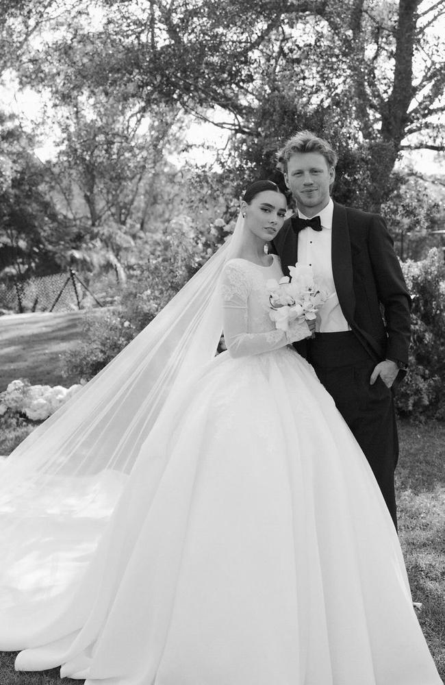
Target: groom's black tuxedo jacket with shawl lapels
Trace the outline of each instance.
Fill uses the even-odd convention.
[[[270,247],[281,258],[285,275],[298,261],[292,219],[285,221]],[[344,317],[373,360],[407,364],[411,299],[393,245],[379,214],[334,202],[332,271]],[[298,351],[305,353],[304,347]]]

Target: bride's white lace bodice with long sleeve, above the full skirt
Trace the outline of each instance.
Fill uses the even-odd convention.
[[[223,329],[232,357],[259,354],[284,347],[309,335],[305,322],[294,322],[286,333],[275,328],[270,319],[266,282],[283,276],[281,264],[272,255],[270,266],[259,266],[244,259],[227,262],[221,279]]]

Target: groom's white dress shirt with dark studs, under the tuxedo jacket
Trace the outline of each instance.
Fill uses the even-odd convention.
[[[319,333],[338,333],[351,330],[351,326],[344,318],[333,281],[332,215],[333,201],[329,199],[327,206],[316,214],[316,216],[320,216],[322,230],[314,231],[308,226],[298,233],[298,262],[312,266],[316,284],[328,293],[327,301],[317,313],[315,329]],[[301,219],[309,218],[301,212],[298,212],[298,216]]]

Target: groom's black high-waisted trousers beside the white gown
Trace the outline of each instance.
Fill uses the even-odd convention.
[[[364,451],[397,528],[398,436],[392,392],[380,377],[370,385],[377,362],[353,332],[318,333],[307,342],[308,361]]]

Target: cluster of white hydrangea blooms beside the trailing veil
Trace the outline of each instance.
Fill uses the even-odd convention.
[[[23,380],[12,381],[8,388],[0,393],[0,416],[10,410],[25,414],[31,421],[44,421],[70,397],[73,397],[83,385],[78,383],[71,388],[64,388],[63,386],[33,386]]]

